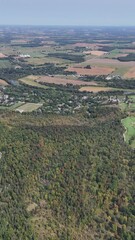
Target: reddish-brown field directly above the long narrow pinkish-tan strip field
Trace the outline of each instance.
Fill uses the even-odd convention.
[[[66,71],[76,72],[79,75],[108,75],[111,74],[115,69],[111,67],[91,67],[91,69],[79,68],[79,67],[69,67]]]

